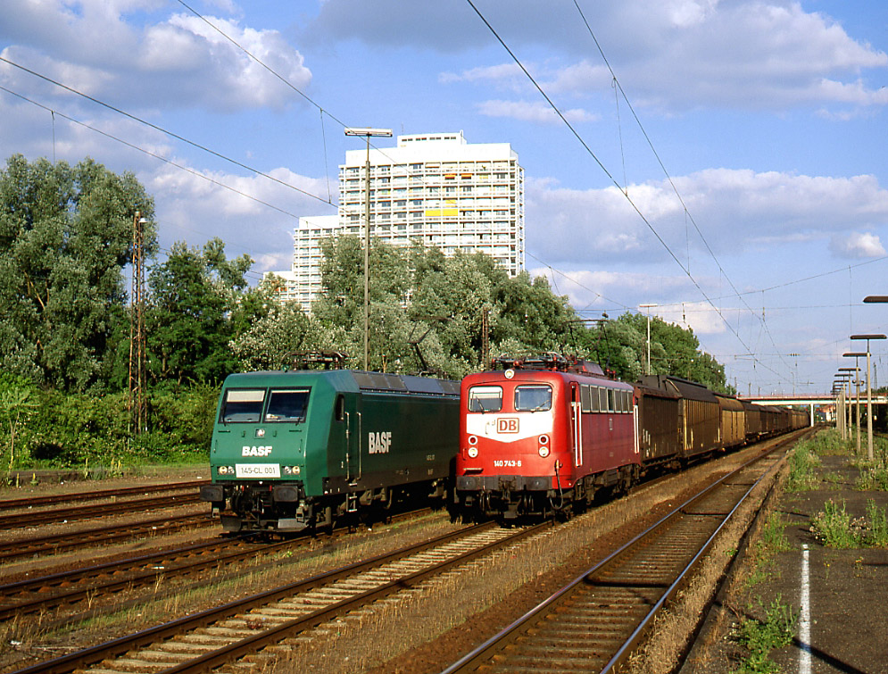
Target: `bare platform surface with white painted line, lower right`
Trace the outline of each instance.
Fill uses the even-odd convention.
[[[787,522],[784,534],[791,550],[776,555],[762,583],[745,589],[742,582],[734,583],[733,591],[718,596],[681,674],[736,670],[740,651],[734,629],[744,612],[761,618],[760,609],[749,608],[758,605],[759,599],[768,605],[780,597],[801,619],[805,566],[810,637],[806,641],[797,631],[792,645],[771,653],[773,662],[784,672],[888,673],[888,550],[828,548],[810,531],[811,519],[829,500],[844,503],[853,518],[866,514],[870,499],[881,508],[888,505],[888,493],[855,488],[859,470],[851,465],[851,458],[821,457],[817,469],[821,488],[778,496],[775,510]],[[735,575],[743,578],[749,569],[743,568],[743,559],[739,562]],[[810,663],[807,670],[806,662]]]

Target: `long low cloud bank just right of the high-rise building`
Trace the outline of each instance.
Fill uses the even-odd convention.
[[[618,255],[621,262],[646,263],[669,257],[658,236],[684,257],[689,247],[696,254],[707,245],[717,254],[740,253],[888,222],[888,190],[873,176],[710,169],[673,181],[689,215],[668,182],[649,181],[627,187],[643,220],[617,187],[577,190],[528,180],[528,245],[549,260]],[[877,243],[861,239],[855,250],[875,250]]]

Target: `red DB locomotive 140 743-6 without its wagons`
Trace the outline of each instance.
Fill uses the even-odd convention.
[[[557,354],[462,380],[456,490],[464,513],[567,514],[629,487],[641,462],[633,387]]]

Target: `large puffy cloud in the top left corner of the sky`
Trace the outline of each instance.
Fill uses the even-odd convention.
[[[12,25],[0,35],[12,44],[4,56],[90,96],[132,110],[206,107],[222,111],[281,109],[300,96],[219,32],[189,14],[142,24],[137,10],[157,8],[148,0],[28,3],[4,7]],[[162,5],[162,4],[161,4]],[[236,21],[207,17],[228,37],[303,89],[311,71],[303,55],[277,30],[241,27]],[[10,66],[4,82],[23,93],[67,96]]]

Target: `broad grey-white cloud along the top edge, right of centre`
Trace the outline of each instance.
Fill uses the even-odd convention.
[[[434,3],[408,0],[365,5],[327,0],[316,26],[319,35],[371,44],[413,42],[443,52],[477,52],[492,44],[474,12],[448,14]],[[491,0],[482,12],[538,81],[539,71],[547,71],[544,79],[552,92],[608,93],[610,72],[597,54],[589,60],[591,37],[569,3]],[[888,104],[885,92],[867,82],[869,71],[888,68],[888,54],[798,2],[627,0],[594,4],[584,12],[634,104],[666,111]],[[544,69],[527,58],[539,51],[546,54]],[[441,81],[516,88],[521,86],[516,78],[508,62],[448,73]]]

